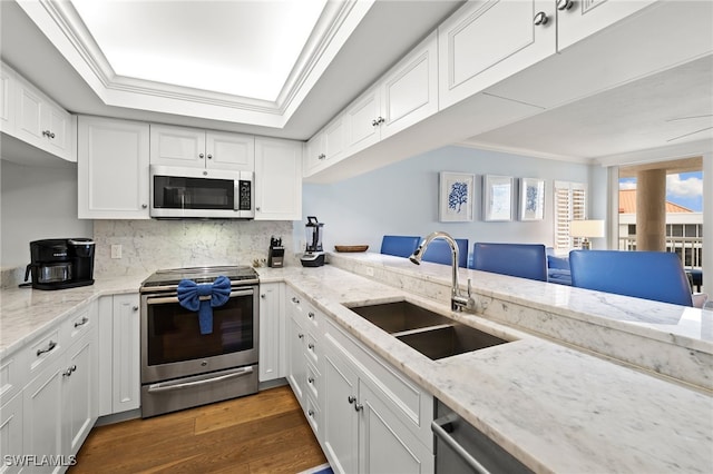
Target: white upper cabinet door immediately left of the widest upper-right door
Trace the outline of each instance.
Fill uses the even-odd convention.
[[[381,81],[381,139],[438,111],[438,37],[433,31]]]

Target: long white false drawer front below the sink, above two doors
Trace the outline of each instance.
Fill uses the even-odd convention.
[[[409,431],[426,445],[432,441],[431,421],[433,419],[433,397],[388,362],[373,354],[360,342],[346,334],[336,323],[324,324],[329,336],[341,345],[344,355],[383,395],[382,398],[393,413],[399,415]]]

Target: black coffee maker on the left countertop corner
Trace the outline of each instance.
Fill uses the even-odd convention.
[[[25,282],[32,288],[64,289],[94,285],[94,249],[90,238],[52,238],[30,243]]]

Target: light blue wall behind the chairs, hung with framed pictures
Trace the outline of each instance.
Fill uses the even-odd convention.
[[[438,220],[440,171],[476,175],[473,221]],[[516,201],[516,220],[484,221],[484,175],[545,179],[545,219],[518,221]],[[541,243],[551,246],[555,180],[587,182],[592,197],[589,217],[605,217],[606,172],[597,172],[588,165],[456,146],[429,151],[335,184],[305,184],[303,213],[305,216],[318,216],[320,221],[325,223],[325,250],[333,250],[334,245],[368,244],[370,251],[379,251],[384,234],[424,236],[433,230],[445,230],[453,237],[468,238],[470,248],[475,241]],[[304,228],[296,225],[295,233],[299,234],[295,241],[304,241]]]

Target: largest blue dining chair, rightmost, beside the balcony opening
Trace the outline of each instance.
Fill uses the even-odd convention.
[[[668,251],[572,250],[572,286],[693,306],[681,258]]]

